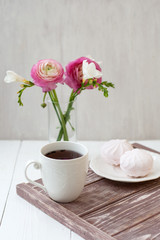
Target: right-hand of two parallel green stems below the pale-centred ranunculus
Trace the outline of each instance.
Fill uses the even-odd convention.
[[[57,105],[57,108],[58,108],[58,111],[59,111],[59,114],[60,114],[60,118],[61,118],[61,128],[63,129],[64,141],[69,141],[68,133],[67,133],[67,129],[66,129],[66,122],[64,120],[64,115],[62,113],[62,110],[61,110],[61,107],[60,107],[60,104],[59,104],[59,101],[58,101],[58,97],[57,97],[56,91],[52,90],[52,92],[54,94],[54,99],[55,99],[55,102],[56,102],[56,105]]]

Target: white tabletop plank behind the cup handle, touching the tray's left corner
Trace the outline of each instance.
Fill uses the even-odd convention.
[[[0,239],[70,240],[70,230],[16,195],[16,184],[25,181],[24,166],[30,159],[37,160],[39,149],[46,142],[24,141],[15,168],[13,183],[3,217]],[[33,178],[38,171],[32,171]]]

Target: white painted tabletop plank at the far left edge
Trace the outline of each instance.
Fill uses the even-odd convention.
[[[20,141],[0,141],[0,223],[3,218]]]

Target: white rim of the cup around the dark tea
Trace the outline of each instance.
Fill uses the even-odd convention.
[[[73,161],[76,161],[76,160],[80,160],[81,158],[86,158],[88,156],[88,149],[85,145],[79,143],[79,142],[73,142],[73,141],[57,141],[57,142],[51,142],[51,143],[48,143],[46,145],[44,145],[42,148],[41,148],[41,155],[43,157],[45,157],[45,159],[47,160],[51,160],[51,161],[57,161],[57,162],[66,162],[65,159],[55,159],[55,158],[49,158],[49,157],[46,157],[45,154],[42,152],[44,150],[44,148],[46,148],[46,146],[48,145],[53,145],[53,144],[62,144],[62,143],[69,143],[69,144],[75,144],[75,145],[79,145],[81,147],[83,147],[85,149],[85,154],[83,154],[82,156],[78,157],[78,158],[73,158],[73,159],[67,159],[67,162],[73,162]]]

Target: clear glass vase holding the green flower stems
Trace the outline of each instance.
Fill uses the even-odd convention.
[[[47,105],[49,141],[76,141],[76,101],[48,99]]]

